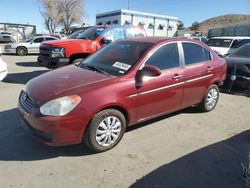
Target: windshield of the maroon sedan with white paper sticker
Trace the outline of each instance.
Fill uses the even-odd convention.
[[[120,76],[127,73],[152,45],[144,42],[117,41],[91,55],[80,64],[80,67]]]

